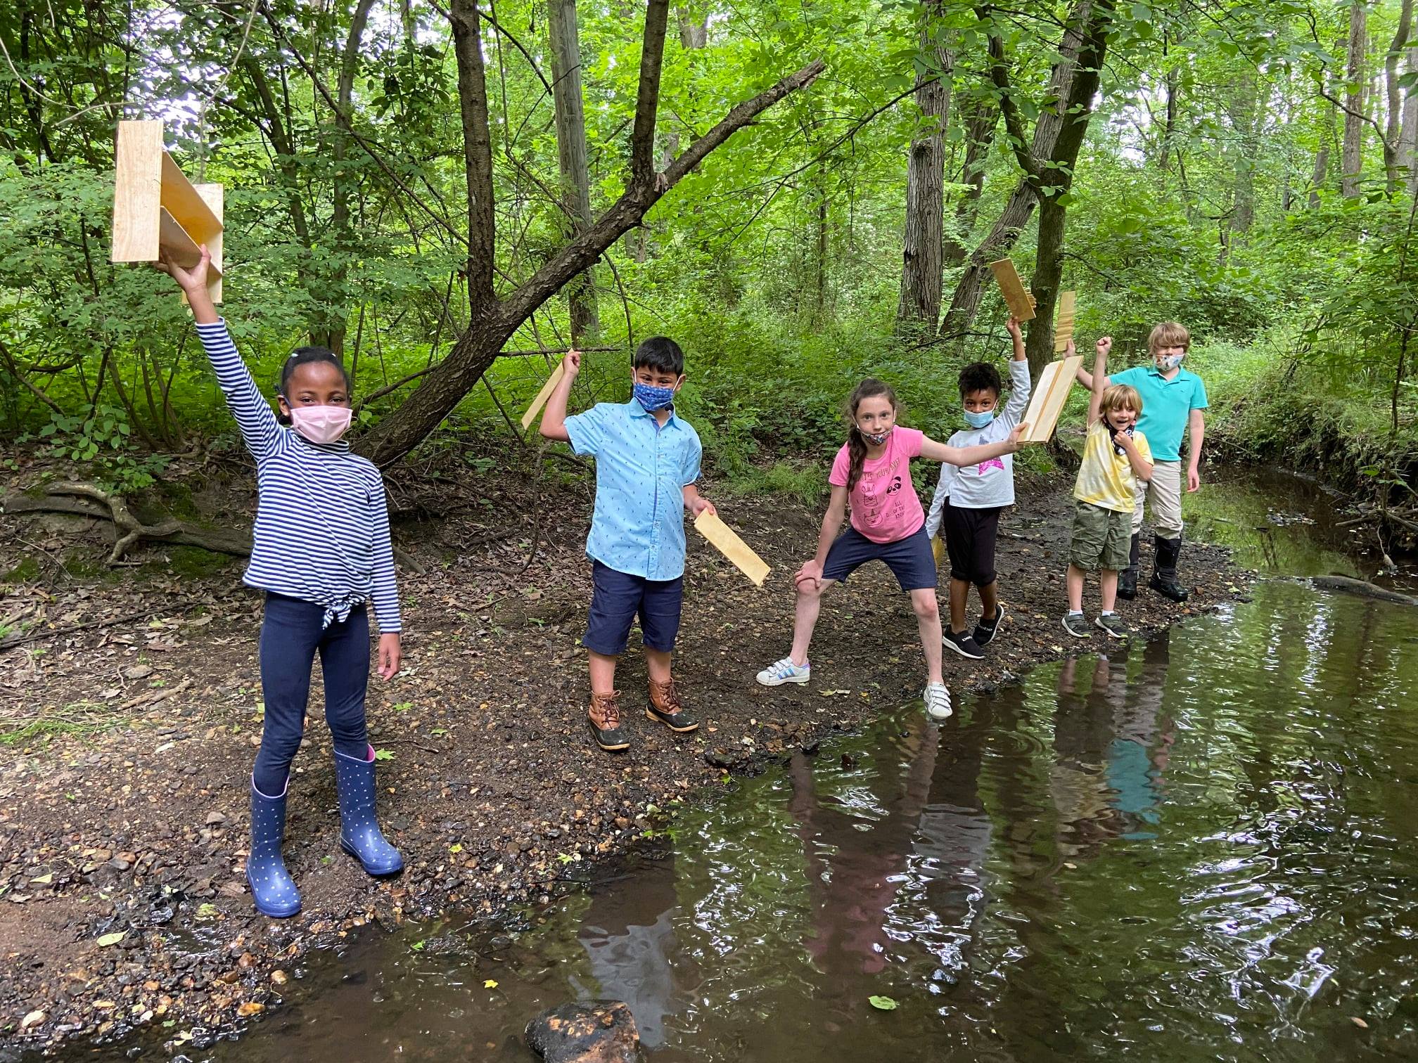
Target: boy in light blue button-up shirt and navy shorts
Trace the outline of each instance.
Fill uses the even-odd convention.
[[[679,634],[685,584],[685,510],[715,512],[699,497],[699,434],[675,415],[685,383],[685,354],[665,336],[645,340],[631,361],[628,403],[597,403],[566,415],[579,351],[562,360],[564,373],[546,404],[542,435],[596,458],[596,512],[586,556],[591,558],[590,618],[581,645],[590,653],[591,734],[603,750],[624,750],[615,663],[637,614],[649,672],[645,714],[685,734],[699,723],[679,702],[669,655]]]

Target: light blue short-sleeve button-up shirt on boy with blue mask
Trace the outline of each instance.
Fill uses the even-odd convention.
[[[699,479],[699,434],[674,411],[661,425],[634,398],[566,418],[566,434],[573,451],[596,458],[586,556],[647,580],[683,575],[683,488]]]

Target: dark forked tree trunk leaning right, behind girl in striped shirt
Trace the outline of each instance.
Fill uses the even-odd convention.
[[[482,55],[474,47],[476,41],[469,41],[469,26],[467,14],[471,0],[454,0],[454,33],[455,52],[458,57],[459,91],[464,94],[464,123],[465,136],[469,145],[465,152],[469,159],[469,221],[476,224],[482,181],[474,170],[481,166],[481,149],[476,145],[486,143],[486,95],[482,84]],[[659,7],[657,16],[657,6]],[[482,283],[481,276],[474,276],[474,268],[482,268],[482,257],[486,258],[486,283],[491,288],[491,249],[493,241],[491,197],[488,198],[486,231],[474,230],[469,232],[469,303],[472,306],[472,320],[458,336],[448,354],[427,376],[404,403],[391,414],[379,421],[377,425],[357,441],[360,454],[372,458],[377,465],[389,465],[403,458],[417,446],[438,424],[462,401],[462,397],[482,378],[488,366],[496,359],[498,351],[508,337],[542,306],[556,295],[562,286],[579,272],[590,266],[611,244],[645,217],[645,211],[654,207],[685,174],[693,170],[716,147],[725,143],[735,132],[749,125],[760,113],[777,103],[791,92],[797,92],[811,85],[822,72],[822,61],[810,62],[795,74],[778,81],[771,88],[760,92],[752,99],[737,103],[725,118],[708,133],[696,139],[689,147],[671,163],[664,173],[654,173],[651,154],[651,140],[655,135],[655,111],[659,102],[659,61],[664,48],[664,34],[666,21],[666,0],[649,0],[649,10],[645,17],[645,45],[641,50],[641,79],[640,95],[635,103],[635,129],[631,133],[632,169],[625,191],[601,214],[596,223],[553,254],[530,279],[509,292],[506,298],[479,298],[476,289]],[[459,26],[459,18],[462,24]],[[474,13],[475,23],[475,13]],[[458,35],[462,35],[462,41]],[[654,40],[658,34],[658,41]],[[478,99],[472,103],[468,94],[482,92],[481,119],[478,129],[476,118],[479,112]],[[471,116],[471,118],[469,118]],[[474,126],[469,129],[469,126]],[[491,157],[491,156],[489,156]],[[491,176],[491,174],[489,174]],[[491,181],[486,186],[491,191]]]

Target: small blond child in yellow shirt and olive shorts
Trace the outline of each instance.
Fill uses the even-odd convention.
[[[1109,638],[1127,635],[1113,612],[1117,601],[1117,571],[1127,567],[1133,533],[1133,495],[1137,480],[1151,478],[1151,448],[1136,429],[1143,400],[1127,384],[1105,387],[1112,336],[1103,336],[1093,360],[1093,391],[1088,404],[1088,441],[1083,462],[1073,483],[1073,534],[1069,541],[1068,612],[1064,631],[1088,636],[1083,619],[1083,578],[1098,573],[1103,611],[1095,621]],[[1069,344],[1069,354],[1072,354]]]

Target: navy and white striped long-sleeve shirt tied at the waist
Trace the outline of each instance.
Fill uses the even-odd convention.
[[[237,353],[224,320],[197,334],[257,459],[257,522],[242,581],[325,607],[325,624],[373,600],[379,629],[400,631],[389,503],[379,469],[350,445],[284,428]]]

